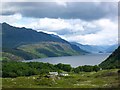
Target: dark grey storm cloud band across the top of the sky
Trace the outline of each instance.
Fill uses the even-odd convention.
[[[117,9],[112,2],[99,4],[92,2],[67,2],[66,6],[55,2],[11,2],[3,4],[2,15],[15,13],[21,13],[24,17],[34,18],[96,20],[117,15]]]

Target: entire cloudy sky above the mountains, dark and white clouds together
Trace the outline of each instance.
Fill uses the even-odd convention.
[[[55,34],[84,45],[114,45],[118,42],[117,2],[4,0],[1,8],[0,23]]]

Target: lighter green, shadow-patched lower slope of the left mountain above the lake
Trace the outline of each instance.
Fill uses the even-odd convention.
[[[78,55],[69,44],[58,42],[42,42],[22,45],[17,49],[30,53],[37,58]]]

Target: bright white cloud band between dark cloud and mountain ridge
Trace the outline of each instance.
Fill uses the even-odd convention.
[[[13,26],[32,28],[37,31],[55,34],[68,41],[82,44],[112,45],[117,44],[118,41],[117,20],[112,21],[106,18],[85,21],[61,18],[24,18],[20,14],[15,14],[13,16],[4,16],[1,20]]]

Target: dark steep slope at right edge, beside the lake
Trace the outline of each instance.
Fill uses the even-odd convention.
[[[103,69],[120,68],[120,46],[99,66]]]

